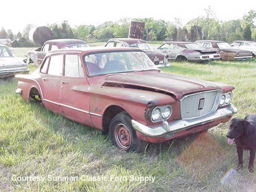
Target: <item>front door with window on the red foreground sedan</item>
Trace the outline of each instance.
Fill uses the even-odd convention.
[[[84,76],[79,54],[64,55],[64,76],[61,80],[61,114],[90,125],[90,85]]]

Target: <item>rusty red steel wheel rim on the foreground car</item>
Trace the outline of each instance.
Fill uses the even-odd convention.
[[[122,150],[128,150],[131,146],[131,133],[124,124],[118,124],[115,127],[116,145]]]

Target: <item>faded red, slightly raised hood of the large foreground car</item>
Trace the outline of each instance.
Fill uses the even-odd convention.
[[[227,89],[232,90],[233,86],[203,81],[198,79],[192,79],[184,76],[177,76],[169,73],[160,73],[157,71],[144,71],[137,73],[127,73],[125,75],[111,75],[105,78],[103,85],[111,84],[111,86],[118,86],[120,84],[125,85],[129,88],[145,87],[152,91],[161,91],[162,93],[171,93],[180,99],[187,93],[195,93],[203,90],[214,90],[214,89]],[[225,86],[222,86],[225,85]]]

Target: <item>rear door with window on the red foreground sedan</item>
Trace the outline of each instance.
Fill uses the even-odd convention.
[[[41,85],[44,95],[44,106],[56,113],[60,113],[59,94],[61,89],[61,79],[63,74],[63,54],[55,54],[45,59],[48,67],[45,71],[46,62],[41,67]]]

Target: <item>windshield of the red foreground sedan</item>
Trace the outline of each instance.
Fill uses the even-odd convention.
[[[158,70],[151,59],[142,51],[94,53],[86,55],[84,61],[89,76]]]

